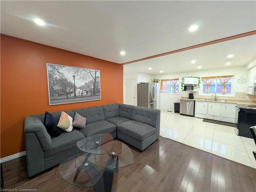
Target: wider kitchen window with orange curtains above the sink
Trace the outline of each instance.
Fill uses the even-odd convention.
[[[233,76],[202,77],[201,94],[232,94]]]

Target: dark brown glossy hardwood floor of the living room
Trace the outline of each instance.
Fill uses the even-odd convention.
[[[160,137],[145,151],[131,147],[134,164],[115,174],[113,191],[255,191],[256,169]],[[25,157],[3,164],[5,188],[37,191],[94,191],[59,176],[58,166],[26,176]]]

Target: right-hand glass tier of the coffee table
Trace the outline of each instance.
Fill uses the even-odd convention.
[[[91,154],[88,158],[88,161],[96,166],[116,169],[131,165],[134,162],[131,149],[121,141],[106,142],[99,148],[102,151],[105,150],[105,153],[101,155]],[[114,156],[118,157],[117,163],[108,163]]]

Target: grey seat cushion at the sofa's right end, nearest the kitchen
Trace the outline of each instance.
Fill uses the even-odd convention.
[[[124,122],[117,126],[117,131],[129,135],[139,141],[143,141],[157,132],[156,128],[137,121]]]

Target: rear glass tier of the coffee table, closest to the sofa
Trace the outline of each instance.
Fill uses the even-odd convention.
[[[92,135],[81,139],[76,142],[76,146],[83,152],[90,154],[105,154],[107,151],[102,149],[105,143],[113,141],[114,138],[109,133],[102,133],[97,135]]]

